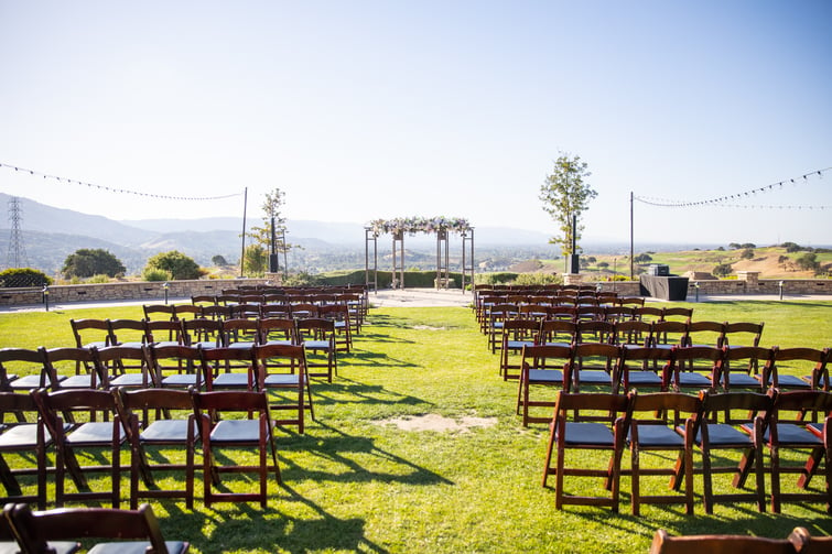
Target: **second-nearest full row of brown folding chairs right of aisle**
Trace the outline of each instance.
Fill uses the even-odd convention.
[[[523,426],[547,423],[552,393],[630,389],[684,391],[721,389],[764,393],[771,388],[830,390],[830,349],[760,347],[633,347],[604,343],[526,346],[520,356],[516,411]],[[761,372],[755,368],[760,367]],[[784,369],[788,368],[787,373]],[[802,374],[796,376],[800,371]],[[533,389],[532,389],[533,388]],[[532,398],[532,393],[533,398]]]

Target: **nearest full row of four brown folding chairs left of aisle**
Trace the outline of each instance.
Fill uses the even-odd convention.
[[[0,480],[8,500],[35,502],[40,509],[47,503],[48,475],[54,478],[57,507],[67,501],[107,501],[119,508],[122,448],[128,447],[133,509],[143,498],[182,498],[193,508],[194,453],[199,444],[206,506],[256,501],[264,507],[268,475],[273,472],[281,484],[273,435],[279,423],[272,420],[269,403],[264,391],[205,392],[193,388],[0,392],[0,412],[17,417],[0,430]],[[165,456],[164,461],[151,463],[159,459],[155,449],[160,448],[184,450],[185,463],[169,461]],[[231,454],[239,449],[244,450],[241,456]],[[220,450],[223,455],[218,456]],[[47,460],[48,452],[54,464]],[[34,467],[21,467],[20,460],[31,459],[32,453]],[[257,464],[248,459],[252,453]],[[13,454],[19,455],[18,460],[10,464],[7,456]],[[82,454],[87,456],[80,458]],[[89,461],[82,465],[82,459]],[[176,479],[175,488],[164,489],[154,479],[160,471],[182,472],[184,482]],[[226,472],[257,474],[259,486],[252,491],[246,480],[238,484],[238,490],[224,492],[220,475]],[[97,474],[108,477],[97,479],[93,487],[89,478]],[[20,481],[31,475],[36,476],[34,492]],[[101,482],[105,480],[106,485]]]

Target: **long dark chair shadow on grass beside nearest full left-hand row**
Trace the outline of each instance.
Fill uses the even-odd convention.
[[[294,435],[291,444],[281,444],[278,447],[281,472],[283,480],[313,480],[333,482],[398,482],[403,485],[453,485],[453,481],[441,475],[413,464],[401,456],[387,452],[376,446],[372,438],[348,435],[334,427],[322,425],[325,431],[333,433],[328,437],[314,437],[310,435]],[[298,465],[292,459],[287,459],[288,452],[311,454],[341,466],[338,471],[323,471],[307,469]],[[392,463],[402,468],[402,472],[374,471],[367,469],[350,454],[370,455],[377,457],[380,463]]]

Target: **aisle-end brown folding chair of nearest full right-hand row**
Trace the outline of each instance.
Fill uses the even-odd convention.
[[[569,413],[574,410],[605,412],[609,414],[609,419],[606,423],[568,421]],[[606,506],[613,512],[618,511],[620,463],[627,433],[624,417],[626,410],[627,397],[623,394],[558,392],[543,470],[543,487],[550,475],[555,477],[555,509],[562,509],[563,504],[583,504]],[[608,452],[609,461],[604,468],[587,467],[584,465],[585,456],[575,456],[577,459],[574,465],[568,467],[566,454],[573,449]],[[601,477],[604,479],[604,490],[608,493],[568,495],[564,491],[565,477]]]

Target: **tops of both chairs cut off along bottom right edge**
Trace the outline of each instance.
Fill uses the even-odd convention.
[[[823,554],[832,552],[832,536],[811,534],[806,528],[795,528],[786,539],[736,534],[673,536],[663,529],[653,534],[649,554]]]

